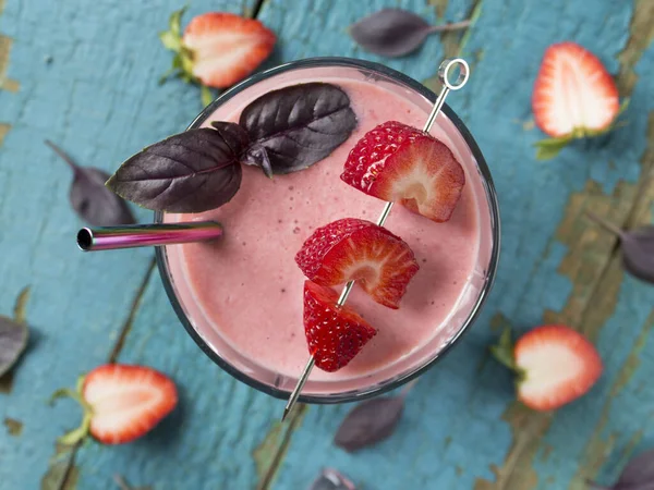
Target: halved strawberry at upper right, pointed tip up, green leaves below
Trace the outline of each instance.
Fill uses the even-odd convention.
[[[576,42],[545,51],[532,95],[536,125],[553,139],[538,143],[540,157],[555,156],[573,138],[610,130],[620,112],[616,84],[602,61]]]

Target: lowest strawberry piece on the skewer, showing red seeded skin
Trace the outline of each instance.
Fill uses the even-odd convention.
[[[329,287],[304,282],[304,332],[316,366],[332,372],[347,366],[377,334],[356,311],[338,307],[338,294]]]

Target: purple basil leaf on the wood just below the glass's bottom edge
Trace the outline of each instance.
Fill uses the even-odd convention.
[[[348,452],[376,444],[395,431],[403,409],[402,395],[362,402],[346,416],[334,443]]]

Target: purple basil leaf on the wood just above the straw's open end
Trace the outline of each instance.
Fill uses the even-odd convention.
[[[52,142],[46,140],[52,150],[73,170],[69,198],[73,210],[82,220],[94,226],[133,224],[134,216],[128,204],[107,187],[109,174],[93,167],[80,167]]]

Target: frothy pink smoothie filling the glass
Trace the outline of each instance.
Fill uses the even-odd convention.
[[[261,93],[300,83],[299,78],[257,84],[255,90],[223,105],[205,125],[213,120],[237,121],[243,107]],[[319,81],[337,84],[350,96],[359,125],[348,142],[312,168],[274,180],[246,167],[240,191],[227,205],[198,215],[166,217],[173,222],[223,224],[219,243],[167,247],[177,293],[195,329],[223,358],[286,389],[292,388],[308,355],[302,324],[305,278],[294,261],[296,252],[315,228],[330,221],[377,220],[384,203],[339,179],[348,152],[365,132],[385,121],[422,127],[429,108],[366,79],[320,76]],[[488,210],[476,163],[452,130],[451,122],[440,117],[432,132],[448,144],[467,172],[452,219],[437,224],[400,206],[393,208],[386,226],[411,246],[420,271],[398,310],[374,303],[354,287],[348,304],[378,334],[346,368],[332,373],[315,369],[305,392],[362,389],[407,371],[433,357],[470,314],[484,274],[480,254],[488,255],[480,246]],[[450,138],[448,131],[459,139]]]

